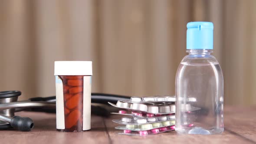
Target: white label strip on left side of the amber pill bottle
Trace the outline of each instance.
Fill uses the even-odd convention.
[[[63,84],[59,76],[55,76],[56,83],[56,128],[65,129]]]

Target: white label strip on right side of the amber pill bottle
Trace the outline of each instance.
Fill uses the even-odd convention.
[[[91,87],[92,76],[84,76],[83,131],[91,129]]]

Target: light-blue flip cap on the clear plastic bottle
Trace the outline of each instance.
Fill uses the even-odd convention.
[[[213,49],[213,23],[187,23],[187,49]]]

